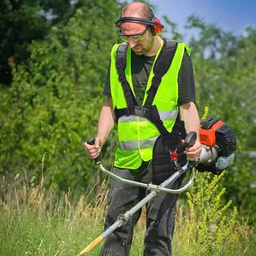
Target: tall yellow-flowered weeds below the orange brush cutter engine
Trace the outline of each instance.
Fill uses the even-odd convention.
[[[196,173],[187,192],[189,209],[177,216],[174,244],[180,254],[176,255],[255,255],[253,227],[241,224],[236,206],[223,199],[225,188],[219,188],[218,182],[224,175]]]

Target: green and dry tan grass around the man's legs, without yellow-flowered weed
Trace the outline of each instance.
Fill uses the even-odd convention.
[[[54,189],[44,189],[43,178],[39,185],[24,177],[0,181],[0,255],[76,255],[103,231],[103,219],[106,212],[108,186],[93,187],[78,201],[71,193],[57,195]],[[97,190],[92,201],[91,193]],[[204,253],[198,251],[204,244],[197,244],[197,251],[182,240],[186,232],[189,210],[181,202],[178,204],[176,229],[173,239],[173,255],[187,255],[183,249],[190,250],[189,255],[228,255],[223,253]],[[256,255],[255,231],[252,227],[236,222],[234,254]],[[143,255],[143,234],[145,231],[144,214],[135,227],[131,256]],[[202,243],[202,241],[201,241]],[[222,244],[229,248],[229,240]],[[214,246],[214,244],[213,244]],[[88,255],[98,255],[100,246],[96,246]],[[229,254],[230,255],[230,254]]]

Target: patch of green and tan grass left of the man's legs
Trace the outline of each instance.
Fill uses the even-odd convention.
[[[76,255],[101,233],[106,197],[99,193],[91,203],[82,196],[74,204],[69,197],[45,191],[42,184],[7,184],[3,178],[0,255]]]

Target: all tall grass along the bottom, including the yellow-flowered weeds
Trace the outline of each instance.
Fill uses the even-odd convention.
[[[255,255],[253,228],[246,221],[236,221],[236,214],[228,211],[229,202],[221,203],[223,191],[216,187],[218,180],[204,180],[208,189],[197,180],[189,191],[189,204],[178,202],[173,255]],[[103,231],[106,183],[89,188],[75,200],[71,192],[58,195],[54,188],[46,190],[43,175],[37,185],[26,176],[1,177],[0,255],[76,255]],[[144,231],[143,213],[135,227],[130,255],[143,255]],[[99,248],[89,255],[98,255]]]

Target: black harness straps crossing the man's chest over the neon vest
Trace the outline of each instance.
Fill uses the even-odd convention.
[[[172,60],[174,59],[174,54],[176,52],[177,46],[178,43],[176,41],[164,39],[163,47],[161,48],[161,52],[159,53],[159,57],[157,58],[157,61],[155,62],[153,68],[155,76],[153,76],[150,89],[148,89],[147,91],[148,97],[146,98],[146,102],[144,103],[144,106],[142,108],[137,106],[136,99],[125,76],[128,44],[121,44],[120,46],[118,46],[118,50],[116,52],[116,69],[118,71],[118,79],[122,84],[125,99],[127,101],[127,106],[129,106],[127,108],[115,109],[116,121],[118,121],[118,118],[124,115],[139,115],[142,117],[146,117],[157,127],[161,135],[163,135],[163,140],[167,146],[172,144],[172,136],[163,125],[163,121],[161,121],[159,112],[157,110],[157,106],[152,106],[152,103],[155,99],[155,95],[157,93],[157,89],[159,88],[159,84],[161,83],[163,75],[168,71],[170,65],[172,64]],[[178,127],[176,127],[177,120],[178,118],[176,118],[176,122],[174,124],[174,127],[172,128],[172,131],[174,132],[178,131]]]

